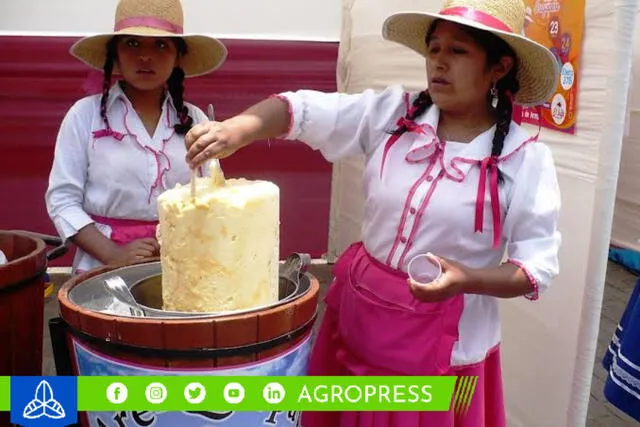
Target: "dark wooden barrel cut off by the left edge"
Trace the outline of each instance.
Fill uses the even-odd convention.
[[[60,248],[47,253],[47,244]],[[56,237],[0,230],[0,375],[42,375],[44,276],[47,260],[66,252]],[[9,414],[0,413],[0,425]]]

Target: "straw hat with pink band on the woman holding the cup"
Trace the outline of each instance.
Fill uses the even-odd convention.
[[[549,49],[522,35],[525,21],[522,0],[448,0],[438,13],[394,13],[385,20],[382,36],[426,57],[427,31],[440,19],[488,31],[511,46],[518,56],[520,83],[515,103],[539,105],[555,92],[560,73],[557,59]]]

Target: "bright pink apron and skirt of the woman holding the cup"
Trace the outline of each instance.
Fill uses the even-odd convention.
[[[462,417],[453,411],[305,412],[302,427],[506,426],[499,351],[473,366],[451,366],[462,295],[437,303],[416,300],[406,273],[375,260],[362,243],[344,252],[334,275],[308,375],[477,375],[477,391]]]

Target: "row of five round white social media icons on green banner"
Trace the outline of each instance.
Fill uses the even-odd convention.
[[[244,386],[237,382],[231,382],[224,387],[222,397],[225,401],[232,405],[242,403],[245,398]],[[262,389],[262,398],[270,404],[281,403],[286,396],[286,392],[282,384],[272,382],[264,386]],[[126,402],[129,397],[127,386],[122,383],[111,383],[107,387],[107,400],[113,404],[121,404]],[[184,398],[192,404],[199,404],[207,397],[205,387],[197,382],[190,383],[184,388]],[[160,404],[167,399],[167,388],[162,383],[151,383],[145,389],[145,398],[149,403]]]

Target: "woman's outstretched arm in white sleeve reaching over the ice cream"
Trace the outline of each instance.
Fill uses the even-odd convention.
[[[330,162],[368,155],[404,115],[408,96],[400,86],[379,93],[284,92],[224,122],[194,126],[185,139],[186,160],[194,168],[269,138],[301,141]]]

